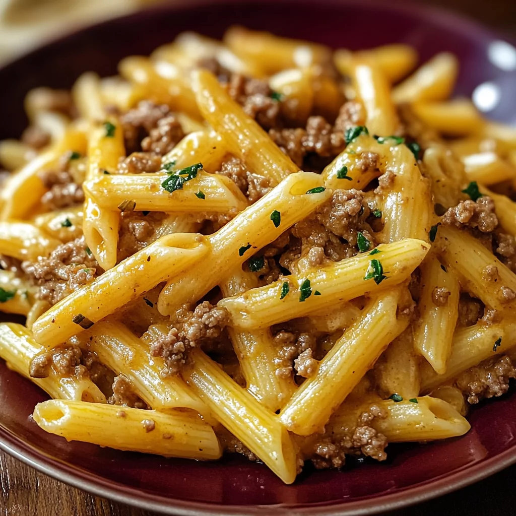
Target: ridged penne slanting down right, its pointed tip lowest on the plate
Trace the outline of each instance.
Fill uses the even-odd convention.
[[[278,416],[237,385],[200,349],[193,349],[191,354],[192,362],[183,373],[191,389],[237,439],[285,483],[292,483],[296,478],[296,450]]]

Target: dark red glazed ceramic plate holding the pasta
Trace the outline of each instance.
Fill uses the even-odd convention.
[[[456,92],[471,95],[478,85],[493,83],[497,102],[490,116],[516,121],[516,57],[510,47],[493,46],[497,38],[488,31],[454,15],[364,0],[190,1],[187,7],[174,3],[88,28],[1,70],[0,138],[17,136],[24,128],[23,97],[32,87],[68,87],[86,70],[113,74],[122,57],[149,53],[180,31],[220,37],[234,23],[333,47],[405,42],[422,59],[454,52],[461,60]],[[514,394],[474,410],[472,429],[460,439],[391,445],[386,463],[350,461],[343,471],[308,469],[292,486],[264,465],[239,457],[196,463],[67,443],[31,421],[34,406],[45,398],[0,362],[0,447],[78,488],[168,514],[266,514],[272,508],[278,514],[371,514],[458,489],[516,462]]]

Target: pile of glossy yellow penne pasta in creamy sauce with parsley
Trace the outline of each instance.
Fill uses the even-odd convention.
[[[349,101],[364,122],[348,126],[344,150],[319,170],[300,171],[287,144],[280,149],[231,98],[208,61],[268,84],[291,128],[314,114],[333,122]],[[0,325],[0,357],[52,397],[36,406],[34,421],[67,440],[203,460],[221,456],[225,429],[286,483],[314,454],[342,465],[344,453],[332,455],[338,446],[375,456],[375,439],[467,432],[456,379],[510,358],[516,343],[514,269],[479,237],[475,211],[489,199],[499,227],[516,235],[516,129],[485,120],[470,100],[448,100],[453,55],[413,72],[416,63],[406,45],[333,52],[233,27],[222,42],[185,33],[150,57],[128,57],[119,77],[85,73],[72,90],[73,118],[49,110],[42,90],[29,93],[31,124],[50,141],[41,149],[0,143],[12,171],[0,198],[0,310],[26,316],[26,325]],[[160,171],[119,173],[127,157],[120,115],[144,100],[168,106],[186,136],[160,156]],[[403,121],[402,112],[410,113]],[[372,154],[376,165],[364,166]],[[63,156],[82,171],[75,183],[84,202],[48,211],[41,172]],[[216,173],[228,156],[265,181],[265,195],[251,203]],[[303,246],[290,270],[264,281],[263,250],[351,189],[377,219],[370,234],[356,234],[358,249],[317,262]],[[471,213],[444,223],[461,202],[478,227],[465,227]],[[120,260],[127,212],[162,218],[152,241]],[[101,273],[83,269],[83,284],[52,304],[40,295],[45,278],[29,280],[19,264],[81,237]],[[180,371],[164,374],[166,357],[151,353],[149,338],[213,292],[236,363],[192,346]],[[459,320],[464,295],[483,309],[470,325]],[[322,335],[305,377],[293,367],[278,374],[280,328]],[[123,377],[147,408],[107,403],[109,392],[85,367],[67,376],[49,365],[53,350],[72,344]],[[40,363],[46,375],[34,373]],[[491,396],[507,390],[504,382]],[[370,433],[359,435],[360,425]],[[385,458],[383,447],[376,458]]]

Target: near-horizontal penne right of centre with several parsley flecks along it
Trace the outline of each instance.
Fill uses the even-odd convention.
[[[218,305],[229,311],[232,326],[246,329],[265,328],[333,307],[337,302],[363,295],[375,295],[384,288],[397,285],[410,277],[429,248],[429,244],[414,239],[382,244],[376,248],[378,252],[374,256],[361,253],[341,262],[310,270],[302,277],[288,276],[284,280],[250,289],[244,294],[224,298]],[[383,276],[380,272],[376,280],[373,276],[365,279],[368,271],[371,271],[370,268],[375,266],[371,264],[372,261],[379,262],[385,271],[385,278],[380,279]],[[307,285],[307,281],[310,289],[308,297],[301,292],[302,285]],[[288,288],[284,287],[285,283]],[[286,294],[283,295],[282,291],[286,291]],[[306,286],[304,291],[307,292]],[[320,295],[315,292],[320,292]]]

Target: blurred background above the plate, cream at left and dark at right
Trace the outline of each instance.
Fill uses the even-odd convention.
[[[0,66],[77,28],[167,1],[174,0],[0,0]],[[461,12],[516,40],[516,0],[405,2]]]

